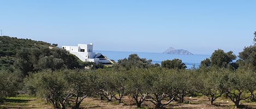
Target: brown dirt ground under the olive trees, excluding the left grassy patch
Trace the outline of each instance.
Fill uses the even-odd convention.
[[[118,104],[116,101],[108,102],[108,101],[102,101],[96,98],[86,98],[81,107],[82,108],[95,108],[95,109],[115,109],[115,108],[136,108],[136,105],[130,105],[135,104],[135,101],[128,102],[128,97],[123,98],[123,103]],[[210,101],[204,97],[200,98],[185,98],[185,102],[183,104],[178,104],[177,102],[173,101],[171,104],[167,105],[166,108],[209,108],[209,109],[217,109],[217,108],[234,108],[233,102],[229,101],[229,99],[217,99],[215,101],[216,105],[210,105]],[[242,102],[243,105],[245,105],[244,108],[256,108],[255,104],[252,103],[246,103]],[[152,102],[146,101],[142,104],[142,107],[144,108],[154,108],[154,105]]]

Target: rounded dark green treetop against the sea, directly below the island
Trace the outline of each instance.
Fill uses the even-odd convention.
[[[162,67],[163,68],[169,68],[169,69],[186,69],[187,66],[185,63],[182,62],[180,59],[173,59],[173,60],[165,60],[162,61]]]

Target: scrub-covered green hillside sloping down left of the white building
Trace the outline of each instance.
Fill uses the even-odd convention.
[[[16,70],[25,76],[42,69],[80,68],[81,64],[57,44],[0,36],[0,70]]]

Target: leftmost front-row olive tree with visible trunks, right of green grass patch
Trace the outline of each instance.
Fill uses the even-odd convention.
[[[32,89],[35,95],[50,101],[54,108],[66,108],[65,104],[73,96],[72,88],[65,80],[65,73],[61,71],[52,72],[44,70],[39,73],[30,74],[25,78],[25,85]]]

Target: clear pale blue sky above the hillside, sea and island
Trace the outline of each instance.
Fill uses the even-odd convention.
[[[2,35],[94,50],[193,54],[253,44],[255,0],[0,0]]]

